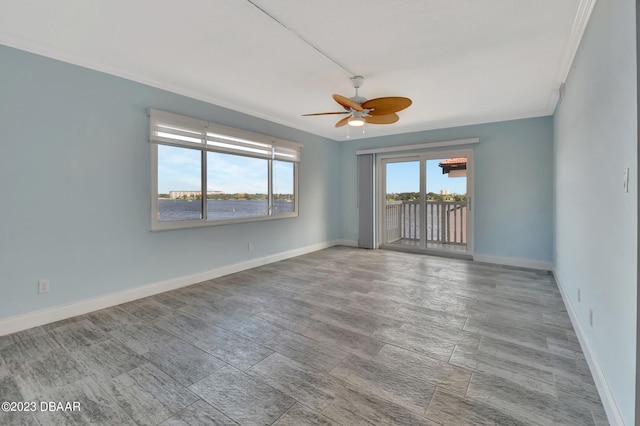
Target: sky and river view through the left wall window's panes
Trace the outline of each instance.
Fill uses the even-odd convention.
[[[207,220],[269,215],[269,160],[206,152]],[[272,161],[273,213],[295,211],[294,164]],[[202,151],[158,146],[158,221],[202,219]]]

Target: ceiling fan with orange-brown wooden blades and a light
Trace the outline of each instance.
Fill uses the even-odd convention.
[[[312,115],[331,115],[331,114],[349,114],[336,123],[336,127],[342,127],[346,124],[350,126],[364,126],[369,124],[391,124],[400,119],[396,112],[411,105],[411,99],[399,96],[391,96],[385,98],[375,98],[367,100],[358,95],[358,89],[364,83],[364,77],[351,77],[351,83],[356,89],[356,95],[347,98],[341,95],[333,95],[333,99],[342,105],[345,111],[339,112],[318,112],[315,114],[303,114],[303,116]]]

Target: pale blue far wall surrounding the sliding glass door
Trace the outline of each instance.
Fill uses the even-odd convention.
[[[479,137],[481,142],[452,149],[474,150],[475,253],[551,262],[551,117],[341,142],[343,238],[358,239],[356,151],[471,137]]]

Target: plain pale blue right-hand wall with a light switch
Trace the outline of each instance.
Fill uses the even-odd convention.
[[[554,119],[556,276],[628,425],[637,350],[635,25],[634,2],[596,3]]]

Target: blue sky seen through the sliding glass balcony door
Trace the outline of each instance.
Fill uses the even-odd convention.
[[[448,189],[452,194],[466,194],[467,179],[443,175],[442,168],[438,166],[440,161],[442,159],[427,160],[427,192],[439,194],[440,190]],[[387,193],[419,191],[419,161],[387,163]]]

